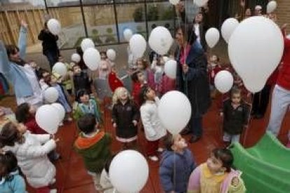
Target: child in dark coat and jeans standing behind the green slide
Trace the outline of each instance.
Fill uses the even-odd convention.
[[[249,105],[242,100],[241,90],[233,88],[230,99],[223,102],[223,141],[240,141],[240,135],[249,120]]]

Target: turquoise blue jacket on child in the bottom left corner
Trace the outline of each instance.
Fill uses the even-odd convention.
[[[18,171],[11,172],[8,179],[0,181],[0,192],[2,193],[25,193],[25,180]]]

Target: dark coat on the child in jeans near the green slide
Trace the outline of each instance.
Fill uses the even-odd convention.
[[[249,120],[249,105],[241,102],[240,106],[233,108],[231,99],[223,102],[223,131],[230,135],[242,134],[244,126]]]

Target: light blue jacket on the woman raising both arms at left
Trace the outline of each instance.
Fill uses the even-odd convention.
[[[25,58],[26,52],[26,32],[27,29],[21,27],[18,39],[18,48],[20,58],[22,59]],[[19,98],[33,96],[34,94],[32,86],[30,85],[30,82],[22,68],[22,66],[9,61],[4,43],[0,41],[0,72],[3,73],[7,80],[12,83],[15,90],[15,96]]]

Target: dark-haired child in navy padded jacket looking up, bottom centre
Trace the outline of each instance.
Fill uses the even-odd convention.
[[[186,192],[189,176],[195,169],[191,150],[181,135],[169,134],[165,140],[165,152],[160,161],[159,176],[165,192]]]

